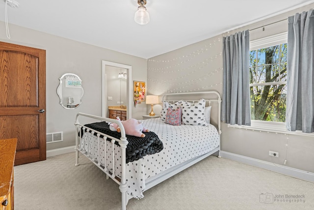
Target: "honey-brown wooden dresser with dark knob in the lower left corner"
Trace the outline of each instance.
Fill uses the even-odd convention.
[[[14,209],[13,166],[17,139],[0,140],[0,210]]]

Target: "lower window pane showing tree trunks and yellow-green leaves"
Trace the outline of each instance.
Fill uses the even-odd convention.
[[[252,120],[285,122],[286,86],[250,87]]]

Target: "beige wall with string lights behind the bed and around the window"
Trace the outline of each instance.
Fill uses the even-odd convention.
[[[237,31],[251,30],[281,21],[297,12],[308,11],[314,4],[229,31],[207,40],[148,60],[148,94],[166,92],[217,90],[222,94],[222,38]],[[232,18],[232,17],[231,17]],[[250,32],[251,39],[283,32],[287,22],[271,25]],[[160,106],[154,108],[160,113]],[[149,109],[148,109],[149,111]],[[157,112],[158,111],[158,112]],[[288,146],[286,146],[288,144]],[[314,137],[259,132],[222,125],[221,148],[247,157],[314,172]],[[279,158],[272,158],[268,151],[278,151]]]

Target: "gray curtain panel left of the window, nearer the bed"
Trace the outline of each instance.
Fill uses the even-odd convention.
[[[223,37],[222,121],[251,125],[249,30]]]

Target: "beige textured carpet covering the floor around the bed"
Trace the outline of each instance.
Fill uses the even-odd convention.
[[[106,180],[85,156],[79,159],[77,167],[74,152],[15,166],[15,210],[119,210],[118,184]],[[275,199],[286,195],[304,198]],[[158,184],[144,196],[131,199],[127,209],[314,209],[314,183],[216,156]]]

